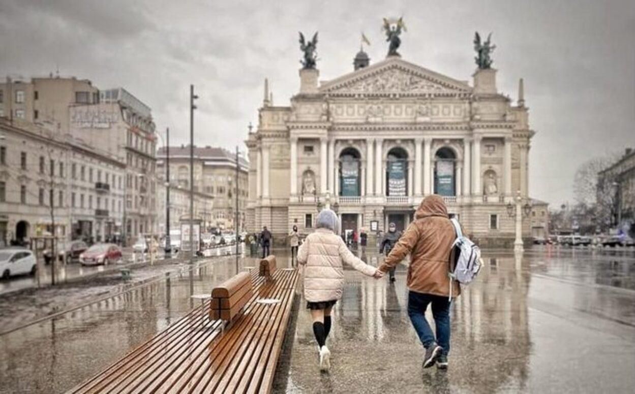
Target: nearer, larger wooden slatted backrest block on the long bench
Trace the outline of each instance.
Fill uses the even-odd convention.
[[[231,322],[253,296],[253,285],[248,272],[225,280],[211,291],[211,320]]]

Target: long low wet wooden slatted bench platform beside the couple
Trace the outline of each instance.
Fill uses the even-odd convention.
[[[222,332],[222,320],[210,320],[208,313],[201,313],[213,310],[211,306],[215,301],[208,301],[69,392],[271,391],[298,273],[297,270],[276,270],[271,280],[265,280],[258,273],[255,268],[247,274],[252,286],[251,296],[243,306],[243,312],[230,316],[232,325],[229,329]],[[244,279],[237,278],[236,282],[241,280]],[[238,293],[217,294],[226,294],[231,299],[232,294]],[[279,302],[258,302],[261,299]],[[220,296],[218,300],[222,307]]]

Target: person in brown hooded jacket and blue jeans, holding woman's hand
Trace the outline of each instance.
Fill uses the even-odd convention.
[[[379,267],[382,272],[398,265],[410,254],[408,267],[408,316],[425,348],[424,368],[438,364],[448,367],[450,351],[450,253],[457,235],[443,198],[429,195],[421,202],[415,220],[401,235],[396,246]],[[452,298],[460,294],[454,282]],[[432,304],[436,338],[425,320],[425,310]]]

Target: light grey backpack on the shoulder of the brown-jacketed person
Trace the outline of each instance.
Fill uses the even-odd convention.
[[[450,253],[450,271],[448,272],[450,277],[450,301],[452,301],[452,282],[458,280],[460,284],[470,284],[483,263],[481,260],[481,248],[463,235],[461,225],[458,224],[456,219],[452,218],[450,221],[457,233],[457,239],[452,244],[454,253]],[[452,256],[454,256],[453,261]]]

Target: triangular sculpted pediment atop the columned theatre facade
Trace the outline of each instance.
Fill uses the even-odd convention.
[[[470,93],[472,88],[463,81],[446,77],[401,58],[392,57],[323,83],[321,93]]]

